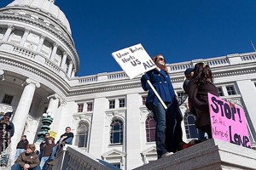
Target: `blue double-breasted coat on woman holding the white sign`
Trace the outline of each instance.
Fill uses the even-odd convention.
[[[154,86],[156,92],[160,95],[161,99],[167,103],[177,103],[176,94],[172,87],[172,82],[169,75],[165,71],[158,71],[157,69],[146,72],[141,78],[142,87],[144,91],[148,91],[148,97],[146,100],[146,106],[149,103],[156,105],[159,99],[157,99],[153,90],[148,85],[147,80],[149,80]],[[150,108],[148,108],[150,110]]]

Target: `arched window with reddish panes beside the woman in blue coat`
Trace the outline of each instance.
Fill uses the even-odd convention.
[[[147,142],[154,142],[155,141],[155,121],[152,116],[149,116],[146,120],[146,136]]]

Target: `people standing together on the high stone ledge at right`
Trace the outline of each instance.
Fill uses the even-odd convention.
[[[160,159],[206,140],[206,133],[207,139],[212,139],[207,93],[218,96],[218,89],[213,84],[210,66],[197,63],[194,68],[184,71],[186,77],[183,82],[184,95],[177,98],[166,68],[166,59],[158,54],[152,60],[156,68],[143,74],[141,83],[143,90],[148,91],[146,106],[154,114],[155,144]],[[183,116],[179,110],[179,105],[182,105],[187,98],[189,98],[189,113],[195,116],[195,127],[199,132],[199,138],[189,143],[183,142],[182,139]]]

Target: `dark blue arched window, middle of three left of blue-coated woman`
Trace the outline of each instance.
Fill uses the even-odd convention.
[[[123,144],[123,122],[114,120],[110,125],[110,143]]]

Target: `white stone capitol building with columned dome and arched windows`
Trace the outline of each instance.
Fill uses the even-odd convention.
[[[14,112],[11,156],[22,134],[37,142],[46,113],[57,139],[71,127],[73,146],[85,155],[127,170],[156,160],[155,123],[140,77],[129,79],[124,71],[76,77],[86,63],[79,62],[69,22],[54,3],[15,0],[0,8],[0,114]],[[255,144],[256,53],[167,64],[177,96],[183,94],[183,71],[198,62],[211,66],[220,98],[244,109]],[[197,138],[195,117],[187,101],[180,109],[189,142]]]

